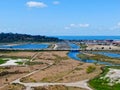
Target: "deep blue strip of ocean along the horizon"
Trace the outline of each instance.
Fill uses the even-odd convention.
[[[64,40],[119,40],[120,36],[54,36]]]

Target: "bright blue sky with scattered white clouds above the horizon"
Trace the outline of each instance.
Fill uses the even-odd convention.
[[[0,0],[0,32],[120,36],[120,0]]]

